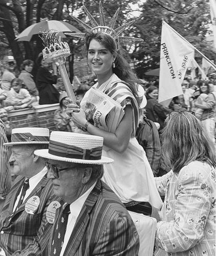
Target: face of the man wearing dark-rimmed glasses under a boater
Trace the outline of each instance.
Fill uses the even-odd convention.
[[[55,178],[52,170],[48,170],[47,177],[52,179],[53,192],[56,196],[61,197],[67,203],[74,202],[79,196],[84,186],[82,182],[83,170],[75,167],[74,163],[62,162],[49,159],[51,165],[57,168],[68,168],[59,172],[59,178]],[[76,164],[78,166],[78,164]]]

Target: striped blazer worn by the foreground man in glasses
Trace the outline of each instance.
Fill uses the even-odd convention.
[[[61,212],[62,207],[58,218]],[[53,228],[42,256],[50,255]],[[63,255],[136,256],[138,251],[139,236],[131,216],[111,188],[98,180],[81,209]]]

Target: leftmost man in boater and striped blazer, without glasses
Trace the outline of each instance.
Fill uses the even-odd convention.
[[[42,237],[53,195],[52,182],[46,177],[45,159],[36,156],[34,151],[48,148],[48,144],[49,129],[37,127],[13,129],[11,142],[4,143],[11,146],[12,173],[18,175],[0,217],[0,246],[6,255],[17,250],[21,255],[40,252],[37,240]],[[55,203],[60,206],[59,202]],[[25,249],[31,243],[32,246]]]

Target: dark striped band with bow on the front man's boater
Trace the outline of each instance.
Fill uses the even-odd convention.
[[[48,152],[49,154],[58,157],[84,160],[100,160],[102,155],[102,146],[86,150],[78,146],[68,145],[61,142],[50,140]]]

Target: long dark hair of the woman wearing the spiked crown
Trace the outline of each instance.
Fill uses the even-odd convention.
[[[104,33],[93,33],[88,32],[85,34],[84,49],[88,52],[89,45],[92,39],[100,42],[107,50],[113,54],[116,59],[114,61],[115,68],[113,68],[113,73],[115,73],[122,81],[127,83],[129,89],[131,89],[133,95],[135,96],[138,104],[140,103],[139,97],[137,95],[139,80],[136,74],[132,71],[131,67],[127,63],[126,59],[121,55],[120,51],[116,50],[116,44],[114,39]],[[88,54],[88,53],[87,53]]]

